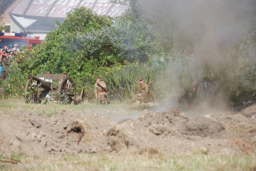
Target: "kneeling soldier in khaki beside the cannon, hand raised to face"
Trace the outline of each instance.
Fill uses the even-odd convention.
[[[100,100],[100,104],[105,104],[106,93],[106,84],[104,81],[101,81],[100,77],[96,77],[96,83],[94,84],[95,98]]]

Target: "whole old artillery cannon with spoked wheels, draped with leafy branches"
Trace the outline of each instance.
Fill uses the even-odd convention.
[[[27,103],[41,103],[49,97],[53,100],[57,98],[57,94],[60,103],[76,104],[74,80],[64,74],[39,74],[36,77],[28,75],[25,87]]]

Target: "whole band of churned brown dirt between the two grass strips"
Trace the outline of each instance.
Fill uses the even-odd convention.
[[[146,147],[169,153],[255,154],[256,104],[240,112],[187,118],[178,109],[148,112],[137,120],[63,110],[50,118],[18,110],[0,111],[0,155],[56,157],[79,153],[121,153]]]

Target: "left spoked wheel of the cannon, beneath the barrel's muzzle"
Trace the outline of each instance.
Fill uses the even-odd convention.
[[[35,91],[35,85],[33,79],[28,79],[25,87],[25,99],[26,103],[37,103],[37,91]]]

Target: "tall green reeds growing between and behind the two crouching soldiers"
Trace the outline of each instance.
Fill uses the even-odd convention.
[[[108,68],[100,75],[108,86],[110,99],[124,102],[133,99],[137,94],[140,77],[144,77],[144,82],[148,80],[150,91],[152,91],[156,73],[151,66],[146,64],[126,62],[124,65],[115,63],[113,67]]]

